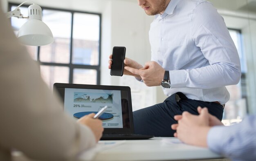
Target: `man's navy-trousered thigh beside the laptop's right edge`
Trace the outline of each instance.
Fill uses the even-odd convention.
[[[171,125],[177,123],[173,117],[181,114],[182,110],[175,98],[170,96],[163,103],[133,112],[135,133],[171,137],[175,132]]]

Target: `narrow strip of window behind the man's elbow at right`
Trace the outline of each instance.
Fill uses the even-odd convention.
[[[247,73],[246,57],[243,51],[242,35],[240,30],[229,29],[240,57],[242,76],[237,85],[226,86],[230,99],[225,105],[223,119],[242,119],[247,114],[247,92],[245,84],[245,75]]]

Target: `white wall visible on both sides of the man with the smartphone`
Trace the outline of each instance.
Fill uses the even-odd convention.
[[[11,0],[21,3],[24,0]],[[246,0],[210,0],[225,18],[228,27],[241,29],[244,34],[247,53],[247,84],[249,111],[256,113],[256,15],[248,12],[237,15],[234,10],[245,10]],[[250,0],[255,1],[255,0]],[[38,5],[61,9],[73,9],[102,13],[101,84],[130,86],[134,109],[144,108],[162,102],[166,96],[160,87],[146,87],[133,77],[110,76],[108,56],[113,46],[126,46],[126,56],[144,64],[150,60],[148,30],[153,16],[147,16],[137,6],[136,0],[34,0]],[[7,11],[7,0],[2,0]],[[252,3],[252,2],[251,2]],[[250,18],[251,19],[250,19]]]

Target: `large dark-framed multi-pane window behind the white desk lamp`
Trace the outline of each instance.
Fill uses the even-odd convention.
[[[10,11],[18,4],[9,3]],[[28,6],[20,7],[27,16]],[[53,84],[99,84],[101,14],[42,7],[43,22],[49,26],[54,42],[46,46],[27,46],[29,54],[40,63],[40,72]],[[27,20],[11,18],[14,32]]]

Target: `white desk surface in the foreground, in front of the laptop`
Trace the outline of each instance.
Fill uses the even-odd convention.
[[[100,141],[103,143],[119,143],[110,148],[96,151],[94,161],[172,161],[190,159],[218,159],[222,156],[207,148],[189,146],[176,138],[155,137],[149,140]],[[94,152],[95,152],[94,151]],[[84,158],[83,158],[84,157]],[[81,160],[87,160],[82,155]]]

